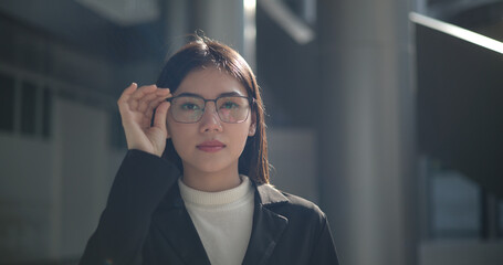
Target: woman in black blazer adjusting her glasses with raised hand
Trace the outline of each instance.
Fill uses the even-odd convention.
[[[196,38],[118,107],[129,150],[81,264],[338,264],[325,214],[269,184],[262,98],[235,51]]]

